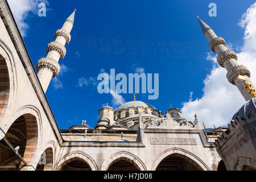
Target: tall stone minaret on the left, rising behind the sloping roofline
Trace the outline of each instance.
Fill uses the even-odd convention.
[[[71,40],[70,32],[74,24],[75,11],[65,20],[63,27],[56,31],[54,35],[55,41],[50,42],[46,48],[47,56],[41,58],[36,64],[36,71],[44,93],[46,93],[51,79],[60,72],[58,62],[64,58],[66,54],[65,45]]]

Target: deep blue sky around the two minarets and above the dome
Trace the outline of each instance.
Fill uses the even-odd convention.
[[[212,2],[217,5],[216,17],[208,15],[208,5]],[[208,23],[218,36],[232,44],[234,51],[239,52],[243,46],[245,30],[238,22],[254,2],[94,0],[60,3],[48,0],[46,17],[36,14],[37,7],[27,11],[24,16],[22,21],[28,24],[24,42],[36,65],[41,57],[46,56],[46,46],[54,40],[55,31],[77,9],[72,39],[66,46],[67,55],[59,61],[62,71],[51,81],[46,96],[60,129],[81,125],[84,119],[86,124],[94,127],[98,110],[103,105],[108,102],[110,106],[118,106],[111,94],[97,92],[98,74],[102,71],[110,73],[111,68],[115,68],[116,73],[126,75],[135,72],[159,73],[158,100],[148,100],[147,94],[137,94],[136,97],[163,113],[170,104],[181,109],[184,102],[189,102],[190,96],[192,101],[202,98],[205,94],[204,80],[212,73],[214,63],[207,53],[210,52],[208,40],[201,31],[196,15]],[[96,40],[96,49],[88,48],[92,46],[88,40],[92,39]],[[109,51],[101,51],[102,40],[112,42]],[[122,43],[124,46],[121,48],[125,48],[125,51],[117,50],[118,46],[113,46],[113,41]],[[135,45],[135,53],[127,53],[127,41]],[[169,55],[161,52],[161,43],[174,44],[172,49],[167,48]],[[151,45],[148,52],[142,51],[142,44],[146,44],[146,47]],[[155,48],[157,53],[153,51]],[[186,52],[180,52],[182,49]],[[225,69],[222,71],[225,73]],[[229,84],[228,81],[226,84]],[[238,90],[234,88],[229,92]],[[126,102],[133,100],[133,94],[121,94],[121,97]],[[239,102],[231,113],[240,106]],[[190,114],[192,118],[193,114]],[[232,118],[232,114],[228,114],[228,118]],[[213,121],[204,122],[208,127],[214,124]],[[217,123],[217,126],[221,125],[224,123]]]

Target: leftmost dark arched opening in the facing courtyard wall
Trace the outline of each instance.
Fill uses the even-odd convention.
[[[72,158],[61,165],[60,171],[92,171],[92,168],[85,160]]]

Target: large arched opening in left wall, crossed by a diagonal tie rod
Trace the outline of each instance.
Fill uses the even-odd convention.
[[[14,148],[19,148],[17,148],[19,155],[27,165],[30,165],[38,143],[38,125],[34,115],[24,114],[16,119],[5,138]],[[3,139],[0,141],[0,166],[0,170],[19,170],[21,166],[24,166],[22,160]]]

